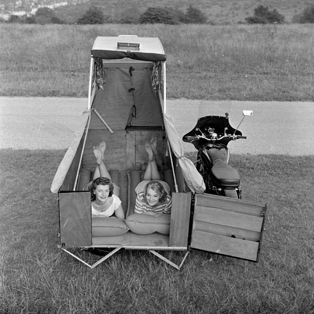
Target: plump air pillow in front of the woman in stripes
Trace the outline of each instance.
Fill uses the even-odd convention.
[[[170,232],[170,214],[132,214],[125,219],[126,225],[135,234],[149,235],[159,232],[163,235],[169,235]]]

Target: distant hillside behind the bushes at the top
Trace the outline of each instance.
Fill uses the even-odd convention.
[[[190,4],[200,9],[215,24],[244,22],[254,14],[258,5],[276,9],[291,22],[294,15],[301,13],[313,0],[0,0],[0,13],[26,11],[41,6],[54,7],[56,15],[67,23],[74,23],[91,5],[96,5],[107,16],[108,22],[119,21],[121,17],[133,15],[137,18],[148,7],[174,7],[185,12]]]

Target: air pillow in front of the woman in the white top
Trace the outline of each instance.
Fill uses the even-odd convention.
[[[124,235],[129,231],[122,219],[116,217],[92,217],[91,236]]]

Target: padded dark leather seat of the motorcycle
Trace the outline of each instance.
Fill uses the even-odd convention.
[[[210,174],[213,182],[219,185],[240,185],[240,177],[238,171],[220,159],[215,160],[213,166],[210,169]]]

